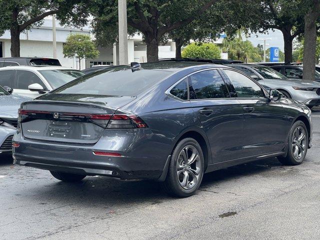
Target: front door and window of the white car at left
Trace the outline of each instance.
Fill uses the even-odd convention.
[[[38,83],[43,87],[43,89],[48,90],[48,87],[41,80],[41,78],[32,71],[16,70],[14,79],[15,79],[15,87],[13,92],[22,96],[29,96],[34,98],[40,95],[40,93],[36,91],[30,91],[28,89],[28,86],[33,83]]]

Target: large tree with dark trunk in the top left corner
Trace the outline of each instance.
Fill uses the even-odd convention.
[[[87,7],[80,0],[0,0],[0,35],[10,30],[11,56],[20,56],[20,33],[40,26],[43,18],[52,14],[62,24],[87,23]]]

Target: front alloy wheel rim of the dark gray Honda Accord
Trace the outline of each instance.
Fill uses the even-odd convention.
[[[292,135],[292,152],[296,160],[301,160],[306,150],[306,133],[303,127],[295,128]]]

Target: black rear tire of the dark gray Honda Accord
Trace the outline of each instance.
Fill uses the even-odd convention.
[[[181,162],[181,159],[183,158],[180,155],[180,153],[182,154],[182,151],[184,151],[184,149],[186,149],[186,151],[188,152],[188,151],[191,151],[193,148],[195,148],[198,153],[198,157],[196,158],[197,160],[192,163],[194,165],[185,164],[185,166],[183,166],[183,167],[186,167],[186,168],[180,168],[180,169],[184,169],[184,172],[181,172],[178,174],[178,172],[177,172],[178,165],[177,164],[179,162]],[[193,153],[193,150],[192,150],[192,153]],[[187,154],[189,154],[189,153],[187,153]],[[187,156],[187,158],[189,158],[189,157]],[[179,163],[179,165],[180,165],[180,163]],[[183,163],[182,163],[182,165],[183,165]],[[186,166],[186,165],[188,165],[188,166]],[[198,174],[195,175],[198,178],[196,178],[196,182],[194,183],[194,185],[192,184],[192,181],[194,181],[193,177],[192,177],[192,174],[194,175],[194,171],[192,171],[192,173],[191,173],[192,169],[190,169],[190,168],[192,168],[192,169],[197,168],[198,169]],[[190,173],[188,173],[188,172],[190,172]],[[202,152],[201,146],[199,145],[199,143],[195,139],[193,139],[191,137],[184,138],[176,144],[176,146],[174,147],[174,149],[172,151],[166,178],[163,182],[161,182],[162,189],[165,192],[167,192],[169,195],[172,195],[172,196],[176,196],[176,197],[190,196],[190,195],[194,194],[195,191],[199,188],[201,181],[202,181],[203,172],[204,172],[204,157],[203,157],[203,152]],[[185,176],[185,174],[188,175],[188,177],[186,178],[186,186],[185,187],[191,186],[190,189],[184,189],[181,186],[181,184],[184,180],[184,178],[183,178],[182,182],[180,182],[179,177],[181,177],[181,174],[182,174],[182,178]],[[191,176],[191,178],[189,178],[190,176]],[[189,179],[192,179],[192,181],[190,180],[190,184],[188,184]]]

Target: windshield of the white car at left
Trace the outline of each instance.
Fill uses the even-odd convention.
[[[84,75],[82,71],[68,69],[39,70],[39,72],[53,89]]]

